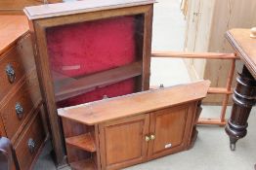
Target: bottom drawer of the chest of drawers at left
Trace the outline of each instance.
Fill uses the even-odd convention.
[[[41,113],[37,113],[25,127],[14,147],[21,170],[28,170],[45,140]]]

